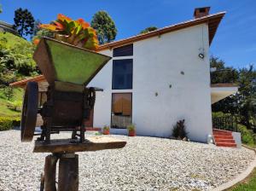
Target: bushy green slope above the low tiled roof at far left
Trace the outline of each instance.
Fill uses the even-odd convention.
[[[0,32],[0,84],[8,85],[25,76],[37,75],[33,51],[32,43],[9,32]]]

